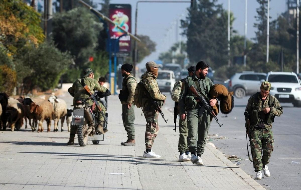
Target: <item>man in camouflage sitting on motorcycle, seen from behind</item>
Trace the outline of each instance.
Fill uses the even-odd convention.
[[[68,89],[68,92],[73,97],[74,109],[76,109],[76,101],[81,100],[81,99],[85,100],[88,97],[90,97],[90,94],[88,94],[88,92],[82,86],[82,83],[81,83],[82,79],[84,81],[84,84],[89,87],[89,89],[92,93],[95,93],[95,90],[97,90],[100,93],[107,92],[107,89],[105,87],[101,86],[98,83],[98,81],[94,79],[94,73],[93,73],[92,69],[85,69],[84,77],[77,79],[73,83],[72,87],[70,87]],[[91,106],[93,105],[93,101],[91,99],[87,100],[86,102]],[[105,132],[107,132],[107,131],[103,130],[104,120],[105,120],[104,115],[106,113],[106,109],[102,103],[100,103],[99,105],[100,105],[102,111],[98,110],[98,108],[95,108],[95,110],[94,110],[94,112],[98,112],[98,113],[102,112],[99,114],[100,117],[98,118],[98,125],[97,125],[95,131],[97,133],[104,134]],[[68,145],[74,145],[75,133],[76,133],[76,128],[71,126],[70,138],[69,138],[69,142],[67,142]]]

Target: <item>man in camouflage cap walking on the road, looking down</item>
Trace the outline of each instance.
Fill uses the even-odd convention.
[[[279,101],[270,94],[271,87],[272,85],[268,81],[262,82],[260,92],[249,98],[246,107],[250,118],[249,137],[253,166],[257,172],[256,179],[262,178],[261,170],[265,176],[271,176],[267,164],[274,149],[272,122],[274,122],[275,116],[281,116],[283,113]]]

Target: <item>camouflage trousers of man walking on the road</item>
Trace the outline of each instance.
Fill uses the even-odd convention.
[[[270,162],[274,150],[272,130],[251,130],[251,152],[255,171],[261,171]],[[261,156],[262,155],[262,156]]]

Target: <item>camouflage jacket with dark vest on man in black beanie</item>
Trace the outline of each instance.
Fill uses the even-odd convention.
[[[128,100],[126,102],[122,101],[122,104],[133,103],[134,93],[137,86],[136,78],[129,74],[125,76],[122,81],[122,90],[129,94]]]

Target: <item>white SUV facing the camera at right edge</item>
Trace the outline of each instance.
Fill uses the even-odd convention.
[[[294,72],[268,72],[266,81],[272,84],[270,93],[279,102],[301,107],[301,84]]]

